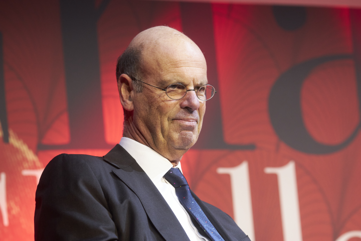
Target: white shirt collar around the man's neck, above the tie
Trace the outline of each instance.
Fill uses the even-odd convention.
[[[130,138],[122,137],[119,145],[135,159],[154,184],[159,182],[164,174],[173,167],[168,159]],[[180,162],[176,167],[182,172]]]

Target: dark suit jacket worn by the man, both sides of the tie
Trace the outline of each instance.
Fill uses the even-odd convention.
[[[250,241],[192,193],[225,240]],[[150,178],[120,145],[104,157],[61,154],[36,191],[35,240],[189,240]]]

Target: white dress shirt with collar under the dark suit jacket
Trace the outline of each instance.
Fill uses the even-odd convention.
[[[193,225],[188,212],[183,205],[180,204],[175,194],[175,188],[163,178],[165,173],[173,167],[173,164],[153,149],[132,139],[122,137],[119,145],[135,159],[139,166],[148,175],[150,180],[154,183],[160,194],[168,203],[170,209],[173,211],[191,241],[208,241],[208,239],[202,236]],[[182,172],[180,162],[176,167]]]

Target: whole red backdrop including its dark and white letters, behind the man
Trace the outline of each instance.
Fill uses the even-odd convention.
[[[85,25],[95,24],[96,36],[68,31],[69,6],[94,21]],[[197,195],[235,218],[253,241],[359,240],[359,13],[347,8],[153,1],[0,2],[0,239],[34,238],[37,178],[54,156],[103,156],[120,141],[123,111],[116,59],[137,33],[167,25],[201,47],[209,81],[218,88],[218,96],[207,103],[199,143],[182,160]],[[69,62],[69,50],[76,45],[67,41],[77,36],[96,44],[89,58],[98,64]],[[78,57],[85,58],[80,52]],[[295,67],[320,58],[325,60],[302,79],[299,97],[292,92],[296,80],[277,85],[285,73],[296,73],[296,79]],[[95,77],[88,79],[88,71],[72,75],[78,70],[95,71]],[[77,81],[81,84],[74,92]],[[282,91],[296,104],[275,94]],[[99,103],[89,102],[97,101],[96,96]],[[301,119],[293,116],[295,109]],[[284,116],[275,113],[292,116],[282,126]],[[100,121],[83,117],[88,114],[100,116]],[[79,119],[89,125],[80,126]],[[97,138],[86,138],[93,133]],[[305,135],[319,148],[308,148]],[[247,166],[237,169],[242,163]],[[286,165],[287,175],[267,169]],[[281,191],[282,175],[296,178],[296,186],[285,189],[295,195]],[[249,193],[240,196],[247,187]],[[282,198],[294,202],[283,203]],[[250,213],[237,212],[247,200]],[[295,214],[285,213],[291,209]],[[349,237],[340,237],[344,233]]]

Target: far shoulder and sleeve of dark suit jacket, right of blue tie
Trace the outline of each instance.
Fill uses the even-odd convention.
[[[229,234],[232,234],[233,237],[236,237],[239,241],[251,241],[248,235],[246,235],[241,228],[236,224],[236,222],[228,215],[223,212],[218,207],[215,207],[207,202],[203,202],[206,207],[212,212],[212,214],[217,218],[221,225],[226,229]]]

